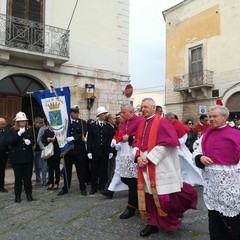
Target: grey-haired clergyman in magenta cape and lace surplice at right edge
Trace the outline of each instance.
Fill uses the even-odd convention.
[[[203,169],[210,240],[240,240],[240,132],[226,123],[228,117],[226,107],[212,107],[211,127],[194,151]]]

